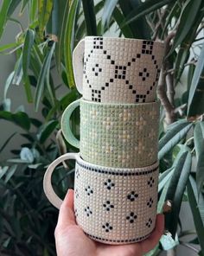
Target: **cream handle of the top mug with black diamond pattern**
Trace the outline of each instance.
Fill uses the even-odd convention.
[[[84,71],[85,40],[82,39],[73,49],[73,76],[77,90],[83,94],[83,71]]]

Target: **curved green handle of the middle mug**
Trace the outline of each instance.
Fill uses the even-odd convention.
[[[69,144],[72,144],[75,148],[80,149],[80,140],[75,138],[70,127],[71,115],[78,106],[80,106],[80,99],[73,101],[73,103],[67,106],[61,117],[61,131]]]

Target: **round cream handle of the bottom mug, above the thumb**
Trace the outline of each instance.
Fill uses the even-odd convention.
[[[58,195],[56,195],[56,193],[54,192],[54,189],[52,187],[51,178],[52,178],[53,171],[59,163],[65,161],[67,159],[75,159],[76,160],[77,156],[78,156],[77,153],[64,154],[61,157],[58,157],[57,159],[55,159],[54,162],[48,166],[48,169],[45,172],[45,175],[43,178],[43,189],[44,189],[45,195],[48,197],[48,201],[51,202],[55,208],[61,208],[62,200]]]

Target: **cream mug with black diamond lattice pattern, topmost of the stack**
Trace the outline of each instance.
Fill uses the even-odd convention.
[[[73,50],[77,89],[94,102],[152,102],[163,53],[163,42],[86,36]]]

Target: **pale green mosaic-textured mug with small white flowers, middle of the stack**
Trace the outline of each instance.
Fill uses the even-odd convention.
[[[70,117],[80,106],[80,141],[73,136]],[[103,104],[85,99],[67,106],[61,130],[69,144],[89,163],[136,168],[157,161],[159,101],[145,104]]]

